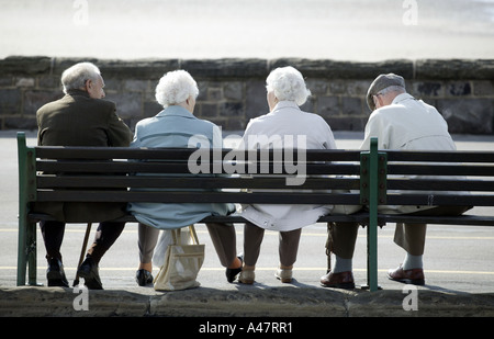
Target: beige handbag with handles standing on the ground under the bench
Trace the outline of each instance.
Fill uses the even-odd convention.
[[[165,253],[165,261],[154,280],[157,291],[179,291],[198,287],[199,270],[204,262],[204,245],[199,244],[193,225],[189,226],[191,238],[195,244],[182,245],[180,229],[172,229],[173,244]]]

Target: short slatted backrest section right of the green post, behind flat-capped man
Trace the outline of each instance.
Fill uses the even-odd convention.
[[[388,150],[388,205],[494,206],[494,151]]]

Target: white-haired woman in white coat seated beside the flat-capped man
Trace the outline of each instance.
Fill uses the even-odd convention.
[[[248,123],[243,137],[244,147],[247,149],[285,146],[297,149],[336,148],[332,128],[324,118],[300,109],[311,91],[306,88],[299,70],[290,66],[274,69],[267,78],[266,88],[270,112]],[[291,140],[294,143],[287,145]],[[276,142],[276,145],[272,142]],[[319,216],[330,213],[330,207],[308,204],[243,205],[242,215],[249,223],[244,228],[245,257],[239,282],[254,283],[255,265],[266,229],[280,231],[280,268],[276,276],[281,282],[291,282],[302,227],[314,224]]]

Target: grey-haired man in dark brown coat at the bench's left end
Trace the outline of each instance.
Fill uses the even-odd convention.
[[[97,66],[80,63],[61,75],[65,97],[42,106],[36,113],[40,146],[126,147],[132,132],[116,115],[115,104],[104,98],[104,80]],[[119,203],[37,203],[35,212],[56,221],[41,222],[48,260],[48,286],[68,286],[61,263],[60,246],[66,222],[112,221],[125,214]],[[125,223],[102,222],[86,260],[78,269],[88,289],[102,289],[98,263],[121,235]]]

